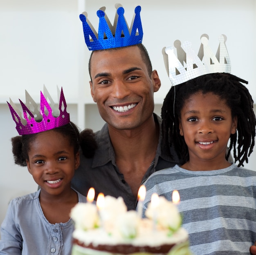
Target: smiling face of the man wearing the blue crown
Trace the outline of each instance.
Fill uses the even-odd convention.
[[[154,110],[157,72],[148,75],[137,46],[95,51],[91,58],[91,94],[103,120],[115,129],[134,129]]]

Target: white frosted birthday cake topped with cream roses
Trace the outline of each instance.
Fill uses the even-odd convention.
[[[190,255],[188,234],[181,228],[177,206],[159,197],[142,219],[127,211],[124,200],[105,197],[104,206],[79,203],[72,208],[74,220],[72,255],[168,254]]]

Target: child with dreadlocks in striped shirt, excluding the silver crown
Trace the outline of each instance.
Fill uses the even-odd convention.
[[[152,193],[171,201],[178,190],[196,255],[250,254],[256,241],[256,171],[240,167],[252,153],[256,120],[241,82],[229,73],[202,75],[171,87],[162,107],[165,145],[175,146],[181,164],[148,178],[144,210]],[[238,166],[227,160],[231,149]]]

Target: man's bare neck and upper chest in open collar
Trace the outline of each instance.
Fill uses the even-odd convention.
[[[142,179],[156,155],[159,125],[152,115],[137,129],[116,130],[109,127],[109,134],[118,169],[137,196]]]

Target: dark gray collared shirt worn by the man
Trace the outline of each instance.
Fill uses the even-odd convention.
[[[154,120],[159,124],[159,143],[155,159],[146,171],[143,180],[155,171],[175,166],[178,163],[177,155],[171,149],[171,156],[162,148],[161,118],[154,114]],[[93,158],[86,158],[80,153],[81,164],[75,171],[72,180],[72,187],[83,195],[87,195],[90,187],[95,189],[95,199],[102,192],[105,196],[123,197],[128,210],[135,209],[137,197],[132,193],[128,183],[124,180],[124,175],[119,171],[115,152],[112,147],[108,133],[108,124],[105,124],[100,131],[95,133],[98,148]]]

